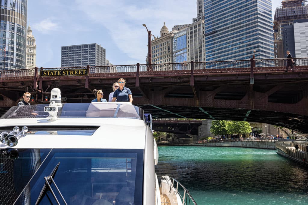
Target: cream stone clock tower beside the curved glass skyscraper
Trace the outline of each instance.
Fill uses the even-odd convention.
[[[26,44],[26,68],[36,67],[36,43],[33,37],[30,25],[27,29],[27,44]]]

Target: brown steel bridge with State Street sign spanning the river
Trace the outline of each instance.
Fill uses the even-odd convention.
[[[4,70],[0,107],[16,105],[25,91],[32,103],[49,103],[55,87],[64,102],[90,102],[92,89],[108,96],[123,77],[133,104],[155,118],[262,122],[308,133],[308,59],[296,63],[294,72],[284,72],[285,59]]]

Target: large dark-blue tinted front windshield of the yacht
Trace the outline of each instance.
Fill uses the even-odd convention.
[[[142,149],[17,149],[14,158],[5,151],[1,204],[35,204],[38,198],[39,204],[57,204],[49,188],[40,196],[44,177],[57,164],[53,179],[67,204],[142,204]],[[64,204],[55,184],[51,188]]]

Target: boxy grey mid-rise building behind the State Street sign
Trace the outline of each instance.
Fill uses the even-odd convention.
[[[61,67],[86,65],[106,65],[106,50],[96,43],[61,47]]]

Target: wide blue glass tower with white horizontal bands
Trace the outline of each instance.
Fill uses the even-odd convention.
[[[274,58],[271,0],[204,0],[206,61]]]

